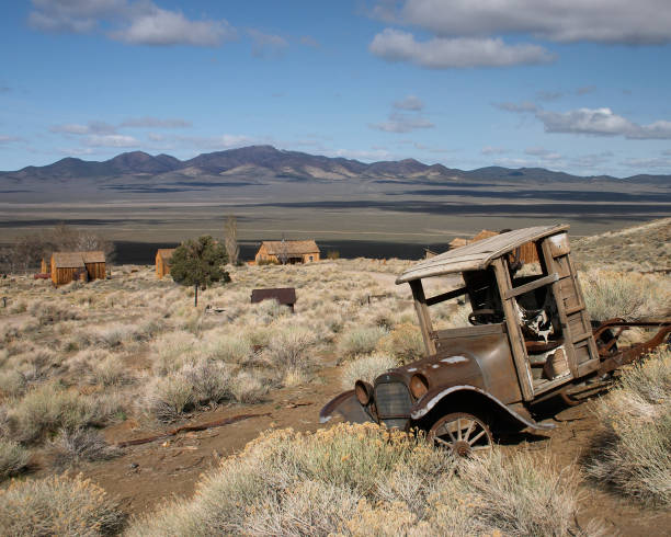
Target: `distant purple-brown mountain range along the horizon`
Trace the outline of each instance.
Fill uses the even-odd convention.
[[[617,181],[647,184],[671,184],[671,175],[634,175],[617,179],[607,175],[577,176],[554,172],[543,168],[510,169],[501,167],[463,171],[442,164],[424,164],[414,159],[364,163],[344,158],[330,158],[285,151],[272,146],[250,146],[226,151],[202,153],[189,160],[179,160],[170,155],[151,156],[143,151],[118,155],[103,162],[65,158],[53,164],[26,167],[18,171],[0,172],[0,180],[45,182],[71,179],[96,179],[118,176],[153,176],[178,173],[196,180],[205,176],[263,178],[289,181],[342,181],[372,179],[386,181],[427,180],[431,182],[496,181],[496,182],[572,182]]]

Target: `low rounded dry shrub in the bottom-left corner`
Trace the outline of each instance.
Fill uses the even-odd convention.
[[[5,535],[106,535],[123,524],[118,505],[80,476],[14,481],[0,491]]]

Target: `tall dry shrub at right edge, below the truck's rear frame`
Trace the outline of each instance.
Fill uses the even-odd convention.
[[[671,351],[625,370],[600,400],[601,423],[585,459],[588,475],[623,495],[671,505]]]

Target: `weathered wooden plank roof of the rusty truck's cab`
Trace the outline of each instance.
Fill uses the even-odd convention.
[[[413,279],[441,276],[462,271],[480,271],[486,268],[493,259],[500,258],[525,242],[566,231],[568,228],[568,225],[537,226],[534,228],[515,229],[507,233],[471,242],[465,247],[448,250],[435,258],[420,261],[398,276],[396,283],[403,284]]]

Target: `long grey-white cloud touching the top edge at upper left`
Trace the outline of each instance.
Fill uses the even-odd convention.
[[[150,0],[32,0],[29,24],[46,32],[89,33],[111,26],[107,35],[133,45],[213,47],[236,37],[225,20],[193,21]]]

